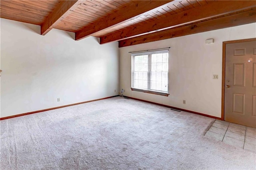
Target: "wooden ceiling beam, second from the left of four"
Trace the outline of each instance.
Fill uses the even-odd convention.
[[[130,20],[134,20],[144,14],[161,8],[161,6],[172,2],[172,0],[142,0],[119,10],[102,20],[96,21],[94,24],[87,26],[83,30],[76,32],[76,40],[81,40],[92,34],[123,24]]]

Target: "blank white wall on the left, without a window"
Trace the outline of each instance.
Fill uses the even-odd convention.
[[[40,26],[2,18],[0,36],[1,117],[118,94],[117,42],[54,29],[41,36]]]

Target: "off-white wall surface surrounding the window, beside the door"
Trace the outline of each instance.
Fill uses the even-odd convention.
[[[120,48],[124,95],[221,117],[222,42],[256,37],[256,23]],[[205,44],[206,39],[213,44]],[[130,90],[132,51],[171,47],[168,97]],[[218,74],[218,80],[212,79]],[[186,104],[182,104],[186,100]]]

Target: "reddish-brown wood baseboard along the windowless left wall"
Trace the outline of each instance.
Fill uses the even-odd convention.
[[[116,96],[119,96],[119,95],[116,95]],[[15,118],[15,117],[19,117],[19,116],[25,116],[25,115],[28,115],[28,114],[34,114],[34,113],[39,113],[39,112],[45,112],[45,111],[48,111],[48,110],[54,110],[54,109],[59,109],[59,108],[68,107],[68,106],[74,106],[74,105],[78,105],[78,104],[84,104],[84,103],[88,103],[88,102],[94,102],[94,101],[98,101],[98,100],[104,100],[104,99],[113,98],[113,97],[116,97],[116,96],[110,96],[110,97],[105,97],[105,98],[99,98],[99,99],[95,99],[95,100],[88,100],[88,101],[85,101],[85,102],[79,102],[79,103],[68,104],[68,105],[64,105],[64,106],[58,106],[58,107],[55,107],[55,108],[48,108],[48,109],[43,109],[43,110],[37,110],[37,111],[34,111],[34,112],[16,114],[16,115],[13,115],[13,116],[7,116],[7,117],[0,118],[0,120]]]

